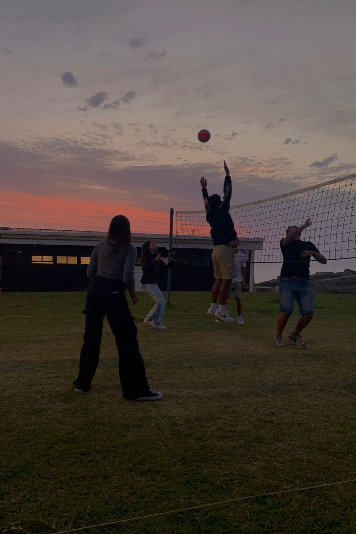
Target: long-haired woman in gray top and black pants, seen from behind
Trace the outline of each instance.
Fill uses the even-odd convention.
[[[88,391],[91,387],[99,363],[103,319],[106,316],[115,336],[124,397],[134,400],[163,397],[148,386],[137,342],[137,328],[125,297],[125,290],[128,290],[133,304],[138,300],[134,277],[136,256],[136,247],[131,244],[130,221],[125,215],[116,215],[111,219],[108,237],[94,248],[87,269],[91,284],[86,297],[79,374],[74,381],[77,392]]]

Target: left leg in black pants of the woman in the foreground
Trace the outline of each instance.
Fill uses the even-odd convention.
[[[104,313],[98,304],[93,284],[88,289],[86,299],[86,320],[84,344],[80,351],[79,374],[74,381],[76,389],[90,389],[99,363],[100,343]]]

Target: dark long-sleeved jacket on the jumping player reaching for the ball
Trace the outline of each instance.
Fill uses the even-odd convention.
[[[225,245],[236,239],[236,232],[233,227],[231,215],[229,214],[231,199],[230,176],[225,176],[224,196],[220,206],[217,208],[212,209],[209,206],[209,195],[206,187],[204,187],[202,192],[205,202],[206,220],[211,226],[210,235],[212,236],[214,245]]]

